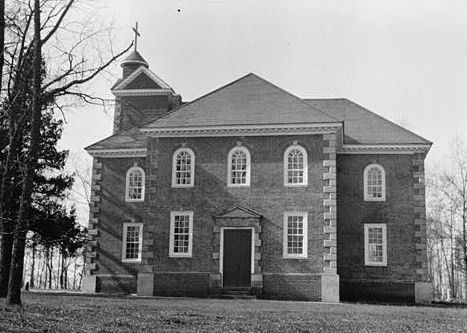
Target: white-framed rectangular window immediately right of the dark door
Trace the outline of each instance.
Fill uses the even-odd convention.
[[[308,214],[306,212],[284,213],[284,258],[308,256]]]

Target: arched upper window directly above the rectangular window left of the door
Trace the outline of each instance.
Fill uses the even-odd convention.
[[[172,187],[193,187],[194,183],[195,154],[189,148],[180,148],[172,159]]]

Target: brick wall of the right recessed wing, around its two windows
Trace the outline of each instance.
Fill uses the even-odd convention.
[[[360,296],[373,290],[376,298],[376,294],[380,294],[383,299],[390,298],[388,295],[400,299],[397,296],[398,283],[400,290],[407,289],[407,284],[412,285],[413,290],[417,254],[414,241],[413,159],[414,155],[411,154],[337,157],[337,266],[343,299],[354,299],[355,294],[359,294],[355,293],[356,290],[361,290]],[[363,171],[371,163],[382,165],[386,171],[384,202],[363,200]],[[386,267],[364,264],[365,223],[387,225]],[[372,284],[367,288],[363,286],[365,282]]]

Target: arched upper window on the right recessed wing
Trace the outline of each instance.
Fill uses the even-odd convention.
[[[386,172],[379,164],[370,164],[363,172],[363,197],[365,201],[386,200]]]

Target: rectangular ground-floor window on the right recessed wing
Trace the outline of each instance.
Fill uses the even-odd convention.
[[[365,224],[365,265],[387,266],[386,224]]]

